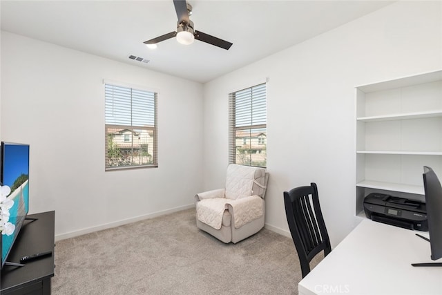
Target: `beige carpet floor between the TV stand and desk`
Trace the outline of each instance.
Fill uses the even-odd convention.
[[[291,238],[262,229],[224,244],[195,209],[60,240],[55,265],[55,295],[298,294],[301,279]]]

